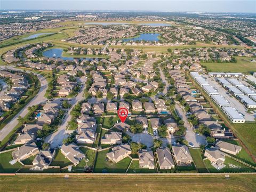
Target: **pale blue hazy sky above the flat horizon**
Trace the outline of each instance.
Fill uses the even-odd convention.
[[[0,0],[0,9],[256,13],[256,0]]]

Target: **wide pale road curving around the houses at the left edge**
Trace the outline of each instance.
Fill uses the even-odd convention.
[[[0,67],[0,70],[3,70],[3,69],[12,69],[15,71],[23,71],[22,69],[16,69],[13,66]],[[44,95],[47,90],[48,83],[42,75],[39,75],[37,73],[34,73],[34,74],[38,77],[38,80],[41,83],[40,90],[38,91],[37,95],[31,101],[29,101],[29,103],[27,103],[27,105],[22,110],[20,110],[19,113],[17,115],[15,115],[12,118],[12,120],[3,127],[2,130],[0,130],[0,141],[2,141],[14,129],[14,127],[19,123],[17,120],[19,116],[25,117],[25,115],[28,114],[28,112],[29,112],[28,107],[38,105],[39,103],[47,101],[47,98],[45,98]]]

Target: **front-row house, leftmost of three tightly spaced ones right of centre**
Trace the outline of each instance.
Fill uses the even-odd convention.
[[[152,150],[139,150],[139,164],[140,168],[155,169],[154,155]]]

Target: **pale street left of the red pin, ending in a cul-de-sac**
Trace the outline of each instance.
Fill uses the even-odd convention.
[[[50,143],[52,148],[58,147],[58,145],[62,145],[63,139],[66,139],[68,137],[68,133],[66,131],[68,122],[71,120],[72,116],[70,115],[71,110],[77,105],[77,103],[81,100],[83,100],[83,94],[85,89],[85,77],[82,77],[81,79],[78,79],[79,83],[82,83],[82,87],[80,92],[77,94],[76,97],[69,99],[69,102],[71,104],[71,108],[68,110],[68,113],[66,114],[65,118],[62,119],[61,125],[58,128],[58,130],[50,135],[48,135],[45,138],[45,142]]]

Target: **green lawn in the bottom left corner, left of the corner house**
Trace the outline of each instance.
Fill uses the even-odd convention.
[[[14,173],[22,167],[19,162],[11,165],[9,163],[11,160],[12,151],[0,154],[0,173]]]

